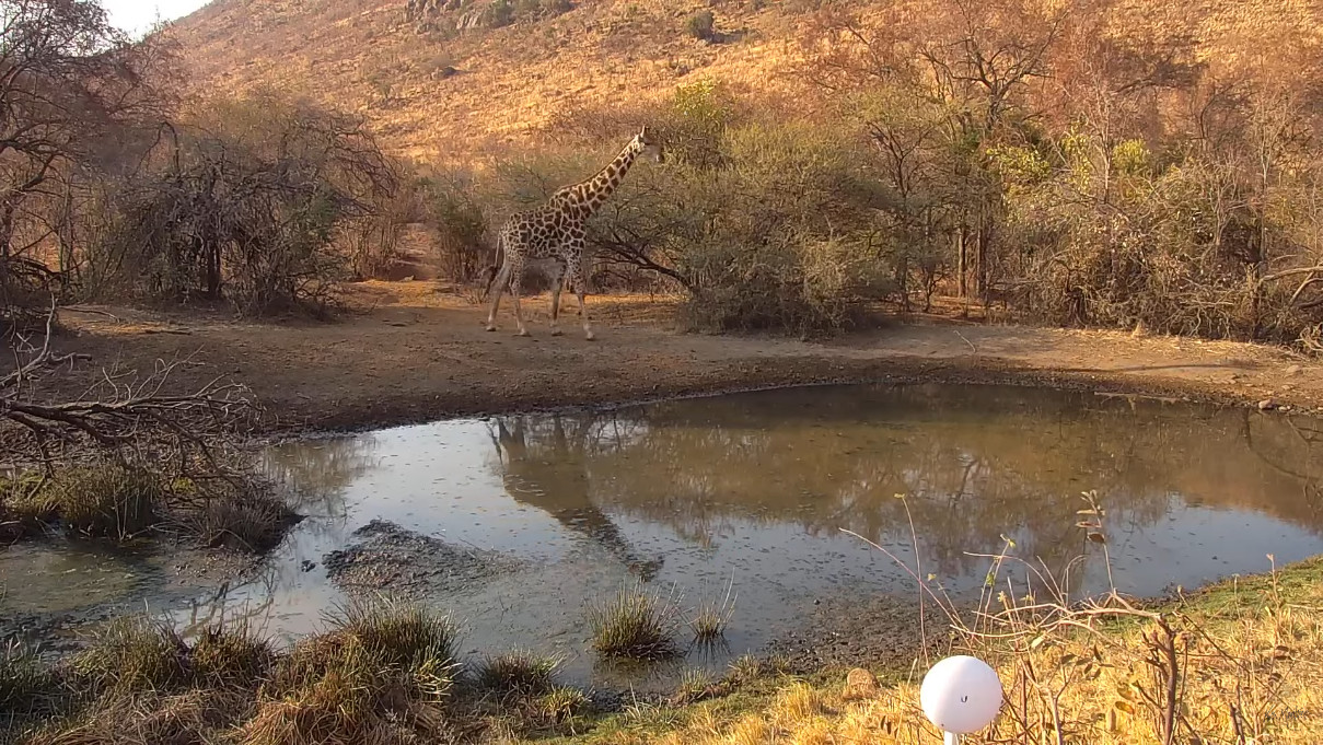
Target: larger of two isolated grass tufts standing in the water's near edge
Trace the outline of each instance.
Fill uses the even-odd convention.
[[[593,648],[606,658],[655,660],[679,654],[671,638],[676,606],[642,585],[626,585],[607,601],[589,607]]]

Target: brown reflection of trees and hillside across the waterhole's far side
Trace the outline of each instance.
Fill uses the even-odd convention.
[[[733,521],[909,544],[925,570],[982,574],[1003,536],[1057,576],[1174,507],[1249,508],[1323,531],[1316,422],[999,386],[851,386],[497,421],[507,490],[619,554],[603,509],[708,537]],[[906,500],[896,499],[906,495]],[[910,515],[906,515],[906,505]],[[1114,552],[1115,553],[1115,549]],[[1095,565],[1086,561],[1086,565]],[[1085,581],[1076,572],[1068,590]]]

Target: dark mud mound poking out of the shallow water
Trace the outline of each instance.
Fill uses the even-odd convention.
[[[454,593],[515,572],[523,562],[460,547],[373,520],[353,532],[360,543],[323,558],[327,576],[345,593],[390,590],[409,597]]]

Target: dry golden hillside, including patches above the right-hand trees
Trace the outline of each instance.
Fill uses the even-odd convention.
[[[930,0],[929,0],[930,1]],[[495,4],[499,4],[495,3]],[[180,20],[189,79],[198,90],[259,85],[310,93],[369,115],[384,144],[422,159],[517,142],[568,107],[652,99],[716,77],[737,90],[812,99],[799,65],[815,8],[808,0],[216,0]],[[922,15],[925,1],[852,4],[865,24]],[[708,8],[713,41],[687,33]],[[505,22],[491,28],[495,22]],[[1197,57],[1233,78],[1290,65],[1316,49],[1323,11],[1307,0],[1115,4],[1105,33],[1123,45],[1193,38]],[[1283,44],[1290,40],[1289,44]],[[1273,50],[1266,57],[1266,50]]]

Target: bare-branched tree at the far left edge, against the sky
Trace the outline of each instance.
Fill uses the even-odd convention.
[[[36,255],[61,229],[52,204],[156,111],[147,73],[160,52],[128,41],[95,0],[0,0],[0,327],[56,278]]]

